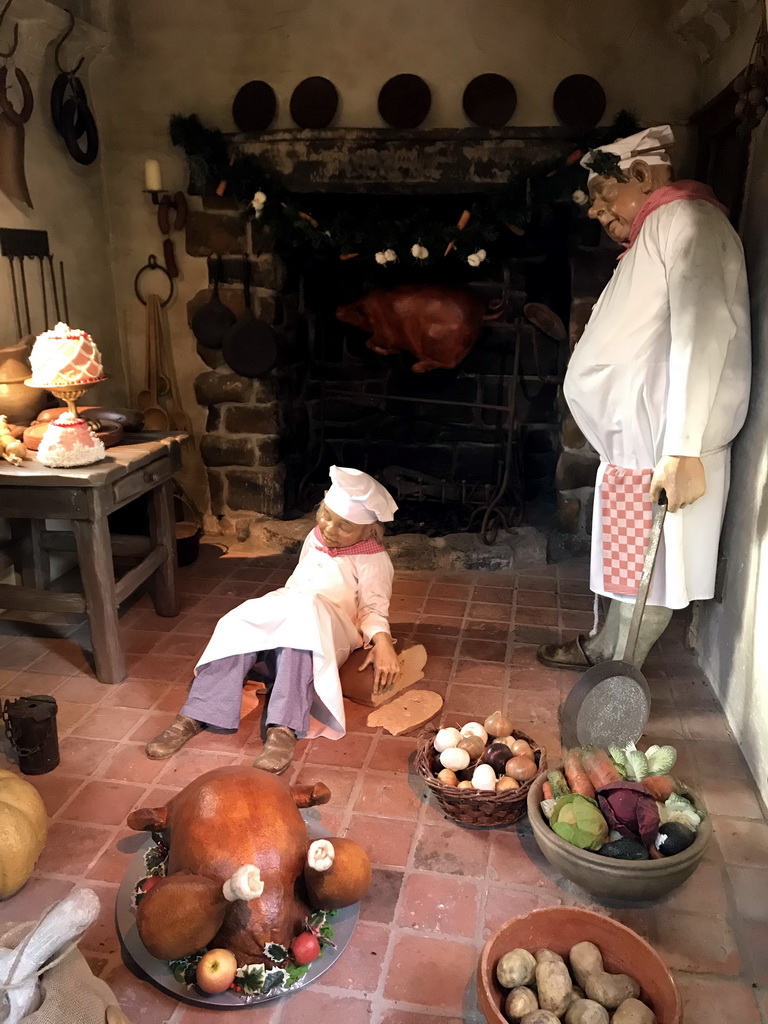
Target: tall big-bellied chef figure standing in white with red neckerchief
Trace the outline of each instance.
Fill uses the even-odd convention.
[[[738,236],[709,186],[673,181],[669,126],[591,151],[590,217],[625,247],[565,376],[600,456],[591,588],[611,599],[592,637],[539,648],[584,669],[624,654],[652,519],[668,515],[642,620],[642,666],[675,608],[711,598],[728,496],[730,444],[750,394],[750,312]]]

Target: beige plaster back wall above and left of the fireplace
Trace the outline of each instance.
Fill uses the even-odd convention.
[[[142,195],[143,162],[160,160],[165,187],[186,185],[181,155],[168,139],[174,113],[198,114],[232,130],[231,101],[241,85],[260,78],[278,94],[274,127],[291,127],[289,100],[305,77],[325,75],[337,86],[339,126],[379,127],[381,85],[401,72],[420,74],[433,102],[424,127],[462,127],[462,92],[477,74],[514,81],[513,125],[554,122],[552,94],[566,75],[598,78],[608,95],[607,117],[622,106],[643,120],[685,118],[695,104],[698,68],[664,29],[664,0],[155,0],[112,2],[109,58],[95,87],[109,103],[104,163],[120,333],[131,391],[143,374],[143,309],[133,276],[150,253],[160,254],[155,208]],[[642,75],[638,75],[642,68]],[[205,261],[186,257],[176,240],[180,279],[168,307],[181,401],[201,433],[204,410],[193,381],[204,370],[186,325],[186,301],[206,285]],[[161,285],[158,285],[160,289]],[[182,480],[207,506],[200,460],[188,452]]]

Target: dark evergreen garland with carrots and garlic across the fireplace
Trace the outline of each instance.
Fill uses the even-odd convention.
[[[391,205],[377,212],[375,201],[362,216],[338,204],[338,209],[325,213],[319,222],[307,210],[311,197],[288,190],[231,137],[206,128],[194,114],[174,115],[170,121],[171,141],[186,155],[190,190],[233,200],[243,216],[257,220],[273,233],[283,251],[301,250],[324,258],[376,259],[382,264],[395,259],[419,263],[446,256],[470,266],[482,263],[485,248],[503,232],[523,234],[531,223],[551,215],[556,206],[569,203],[585,183],[586,172],[580,166],[585,153],[638,130],[633,115],[623,111],[607,128],[585,132],[565,160],[531,163],[511,173],[503,188],[472,197],[459,223],[435,219],[428,201],[418,213],[400,219],[392,218]],[[595,156],[600,161],[606,155]],[[593,168],[597,169],[594,162]],[[614,171],[610,173],[616,176]]]

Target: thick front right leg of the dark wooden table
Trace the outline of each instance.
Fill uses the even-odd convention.
[[[74,519],[86,613],[91,631],[96,678],[102,683],[122,683],[127,675],[118,633],[115,566],[106,516],[95,520]]]

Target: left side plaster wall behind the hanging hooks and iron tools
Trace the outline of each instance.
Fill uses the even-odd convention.
[[[29,78],[35,99],[32,117],[25,126],[24,161],[34,209],[30,210],[23,203],[8,199],[0,190],[0,225],[47,230],[56,267],[59,260],[65,263],[72,324],[93,335],[111,377],[110,381],[90,392],[89,400],[91,403],[123,400],[125,379],[122,345],[115,315],[101,177],[105,125],[103,106],[98,102],[98,96],[93,94],[91,78],[94,68],[101,59],[106,36],[93,25],[79,22],[61,54],[68,68],[81,54],[85,54],[85,62],[79,74],[102,133],[101,154],[93,164],[82,167],[72,159],[63,141],[55,133],[49,113],[50,90],[56,76],[53,49],[55,41],[69,24],[67,14],[47,0],[17,0],[9,9],[0,30],[0,48],[9,47],[15,22],[18,23],[19,43],[14,60]],[[10,98],[18,109],[20,96],[12,66],[8,81],[12,83],[9,88]],[[29,284],[32,333],[38,334],[44,327],[39,265],[26,260],[25,268]],[[17,332],[10,272],[4,259],[0,260],[0,304],[3,310],[0,317],[0,345],[9,345],[17,340]],[[50,292],[49,308],[52,309]],[[51,312],[51,323],[53,318]],[[26,334],[24,318],[22,333]]]

